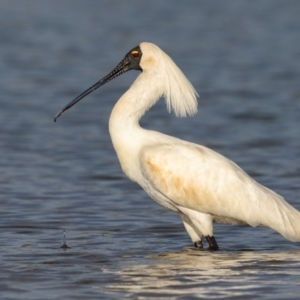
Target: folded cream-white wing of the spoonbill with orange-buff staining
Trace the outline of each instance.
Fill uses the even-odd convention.
[[[185,142],[148,146],[142,149],[140,163],[152,187],[178,206],[272,228],[274,222],[285,226],[291,209],[298,213],[232,161],[203,146]]]

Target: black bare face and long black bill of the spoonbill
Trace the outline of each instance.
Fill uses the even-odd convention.
[[[90,88],[88,88],[86,91],[84,91],[82,94],[80,94],[78,97],[76,97],[73,101],[71,101],[69,104],[67,104],[61,111],[57,113],[57,115],[54,117],[54,122],[62,115],[64,114],[69,108],[71,108],[74,104],[79,102],[81,99],[83,99],[88,94],[92,93],[96,89],[98,89],[100,86],[104,85],[105,83],[111,81],[112,79],[118,77],[119,75],[124,74],[127,71],[130,70],[139,70],[142,71],[140,67],[140,61],[142,58],[142,51],[140,49],[140,46],[137,46],[130,50],[124,59],[105,77],[103,77],[101,80],[96,82],[94,85],[92,85]]]

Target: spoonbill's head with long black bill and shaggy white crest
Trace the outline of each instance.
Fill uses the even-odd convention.
[[[174,109],[177,116],[193,115],[197,112],[197,93],[172,59],[154,44],[143,42],[130,50],[122,61],[105,77],[81,93],[54,117],[54,122],[73,105],[102,85],[130,70],[158,75],[168,110]],[[150,75],[149,74],[149,75]]]

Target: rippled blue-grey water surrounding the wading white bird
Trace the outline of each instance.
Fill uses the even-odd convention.
[[[2,0],[1,299],[298,299],[299,243],[216,225],[221,250],[197,251],[122,174],[107,123],[136,72],[53,117],[154,42],[200,111],[177,119],[161,101],[143,126],[211,147],[300,209],[299,15],[298,1]]]

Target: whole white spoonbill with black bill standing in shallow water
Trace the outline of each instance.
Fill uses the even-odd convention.
[[[109,132],[124,173],[163,207],[180,215],[194,245],[217,250],[213,222],[267,226],[300,241],[300,213],[224,156],[204,146],[140,127],[144,113],[163,96],[180,117],[197,112],[197,92],[159,47],[141,43],[118,66],[56,116],[86,95],[129,71],[141,73],[119,99]]]

